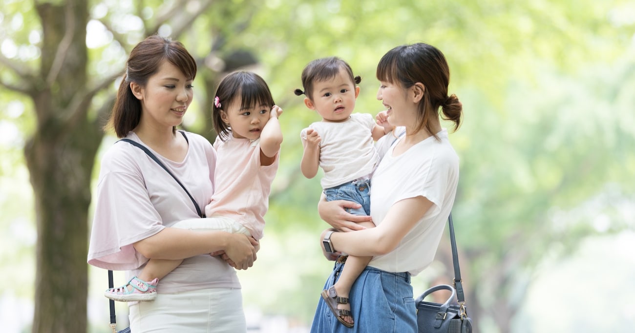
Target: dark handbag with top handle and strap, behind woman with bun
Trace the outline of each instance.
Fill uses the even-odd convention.
[[[435,285],[415,299],[417,305],[417,327],[419,333],[472,333],[472,319],[467,317],[465,296],[458,267],[457,242],[454,237],[452,214],[448,217],[450,224],[450,243],[452,245],[452,261],[454,264],[454,286]],[[443,304],[424,301],[425,296],[435,291],[448,290],[452,294]],[[457,297],[457,304],[452,301]]]

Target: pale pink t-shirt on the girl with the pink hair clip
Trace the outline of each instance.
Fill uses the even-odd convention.
[[[260,139],[237,139],[231,134],[227,141],[217,138],[214,148],[218,156],[216,190],[205,207],[205,215],[232,218],[245,226],[253,238],[262,238],[280,153],[270,166],[260,166]]]

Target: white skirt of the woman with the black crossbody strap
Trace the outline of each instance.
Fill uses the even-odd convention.
[[[246,332],[240,289],[203,289],[157,294],[154,301],[129,303],[130,331]]]

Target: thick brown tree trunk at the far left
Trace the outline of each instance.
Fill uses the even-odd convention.
[[[37,223],[32,332],[86,332],[90,181],[103,137],[88,121],[86,1],[37,4],[43,27],[37,129],[25,145]]]

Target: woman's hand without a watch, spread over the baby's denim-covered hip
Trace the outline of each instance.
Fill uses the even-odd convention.
[[[351,232],[353,230],[366,229],[366,227],[361,226],[358,223],[372,221],[370,216],[354,215],[345,211],[346,208],[357,209],[360,207],[360,204],[352,201],[326,201],[326,198],[322,195],[318,203],[318,212],[320,218],[333,226],[333,228],[342,232]]]

